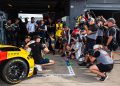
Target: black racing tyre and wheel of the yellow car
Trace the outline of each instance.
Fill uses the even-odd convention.
[[[24,60],[13,59],[8,61],[2,69],[2,79],[9,84],[17,84],[26,78],[28,65]]]

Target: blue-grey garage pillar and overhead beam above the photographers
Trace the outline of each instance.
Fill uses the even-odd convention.
[[[84,14],[84,10],[93,10],[98,15],[103,14],[106,18],[114,17],[120,27],[120,0],[70,0],[70,28],[75,26],[74,18]],[[117,16],[117,17],[116,17]]]

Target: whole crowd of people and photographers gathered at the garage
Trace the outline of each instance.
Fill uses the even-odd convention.
[[[43,58],[43,54],[48,52],[76,59],[80,62],[78,65],[87,66],[104,81],[106,72],[110,72],[114,64],[114,55],[109,51],[115,51],[119,44],[116,21],[114,18],[106,20],[103,16],[93,18],[82,14],[75,22],[75,27],[69,28],[60,19],[56,23],[50,18],[36,22],[32,17],[25,23],[20,19],[14,23],[8,20],[5,24],[7,44],[28,50],[35,64],[42,66],[55,64],[54,60]]]

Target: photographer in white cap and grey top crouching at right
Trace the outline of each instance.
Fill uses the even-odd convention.
[[[113,60],[109,54],[101,48],[101,45],[94,45],[94,55],[90,55],[91,62],[97,61],[96,65],[90,66],[89,70],[92,73],[99,75],[100,81],[104,81],[108,76],[106,72],[110,72],[113,69]]]

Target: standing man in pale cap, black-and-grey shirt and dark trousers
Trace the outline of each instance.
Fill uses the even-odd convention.
[[[98,26],[96,25],[94,18],[89,18],[88,24],[89,27],[87,25],[84,25],[87,34],[85,53],[87,53],[89,50],[93,50],[93,46],[96,44],[97,30],[98,30]],[[86,66],[86,64],[87,64],[86,62],[83,62],[79,65]]]

